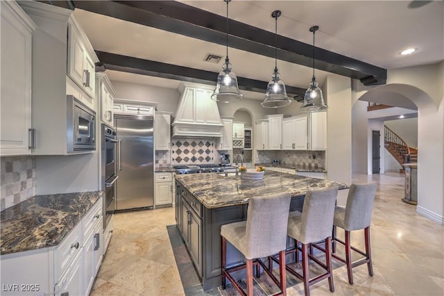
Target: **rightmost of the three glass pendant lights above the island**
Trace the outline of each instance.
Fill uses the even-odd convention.
[[[318,88],[318,82],[314,77],[314,33],[318,31],[319,26],[312,26],[310,32],[313,32],[313,78],[304,96],[304,103],[300,106],[301,111],[304,112],[317,112],[327,110],[327,105],[325,104],[322,90]]]

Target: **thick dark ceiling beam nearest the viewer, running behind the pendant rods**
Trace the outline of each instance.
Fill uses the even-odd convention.
[[[74,1],[74,6],[191,38],[225,44],[225,17],[178,1]],[[274,58],[274,33],[232,19],[229,33],[230,47]],[[278,35],[277,48],[280,60],[312,67],[311,44]],[[387,70],[384,68],[318,47],[315,48],[315,58],[316,69],[359,79],[365,85],[386,83]]]

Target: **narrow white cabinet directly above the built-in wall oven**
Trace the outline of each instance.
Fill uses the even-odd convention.
[[[108,75],[96,73],[96,99],[100,102],[101,120],[108,126],[114,126],[114,96],[116,91]]]

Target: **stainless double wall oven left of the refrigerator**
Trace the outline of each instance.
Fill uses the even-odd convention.
[[[102,138],[102,190],[105,191],[103,199],[103,231],[105,231],[112,214],[116,211],[116,131],[110,126],[101,124]]]

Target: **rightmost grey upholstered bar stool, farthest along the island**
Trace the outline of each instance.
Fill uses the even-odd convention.
[[[372,255],[370,250],[370,223],[372,220],[373,201],[376,195],[376,183],[352,184],[348,192],[345,208],[336,206],[333,221],[333,253],[336,253],[336,242],[345,246],[345,260],[336,254],[333,258],[347,265],[348,282],[353,284],[352,268],[367,263],[368,274],[373,277]],[[345,242],[336,238],[336,227],[345,230]],[[366,252],[350,245],[350,231],[364,229]],[[351,249],[365,256],[360,261],[352,263]]]

